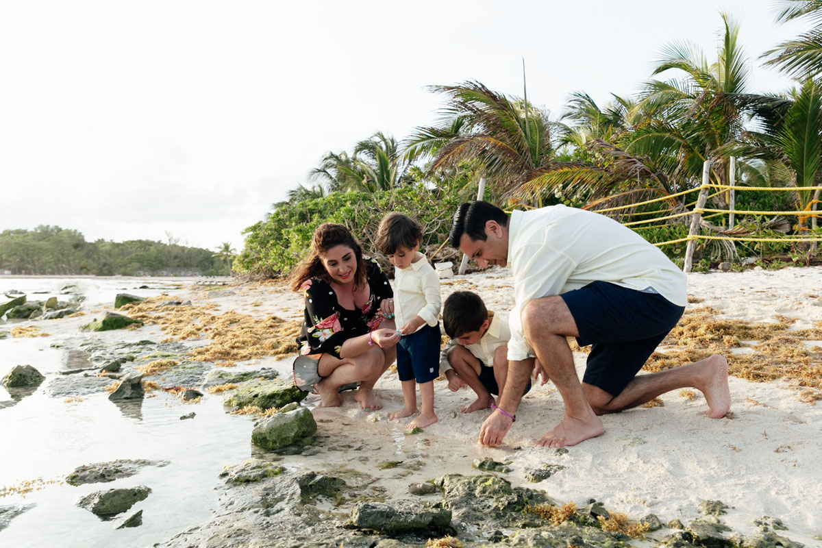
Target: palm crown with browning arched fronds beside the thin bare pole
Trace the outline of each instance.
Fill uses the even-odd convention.
[[[552,163],[556,124],[545,111],[478,81],[431,90],[447,97],[440,123],[418,127],[405,143],[409,158],[431,157],[430,173],[447,173],[468,163],[498,189],[509,191]]]

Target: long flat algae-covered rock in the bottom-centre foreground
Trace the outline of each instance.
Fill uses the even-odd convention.
[[[441,531],[450,525],[451,513],[446,509],[409,504],[361,502],[351,509],[351,523],[354,527],[386,533],[427,529]]]

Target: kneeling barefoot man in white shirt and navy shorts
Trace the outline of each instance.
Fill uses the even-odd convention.
[[[564,205],[515,210],[509,218],[495,205],[473,201],[459,206],[449,238],[482,268],[510,264],[514,275],[508,378],[483,423],[480,443],[502,443],[534,355],[565,404],[565,417],[538,440],[545,447],[598,436],[598,415],[634,408],[674,389],[699,389],[709,417],[727,413],[731,397],[722,356],[636,375],[677,325],[687,295],[685,274],[630,228]],[[566,337],[592,345],[581,383]]]

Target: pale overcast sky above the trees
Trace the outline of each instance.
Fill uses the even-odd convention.
[[[741,25],[751,90],[790,82],[760,53],[806,25],[774,2],[0,0],[0,230],[231,242],[328,150],[436,117],[427,85],[475,79],[558,116],[568,94],[633,94],[660,49],[715,57]]]

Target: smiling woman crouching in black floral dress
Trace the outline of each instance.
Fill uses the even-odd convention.
[[[348,228],[324,223],[289,284],[305,295],[294,384],[307,391],[316,383],[322,407],[339,406],[340,389],[359,385],[354,399],[363,410],[380,409],[374,384],[395,361],[399,341],[394,320],[381,312],[394,293],[380,265],[363,259]]]

